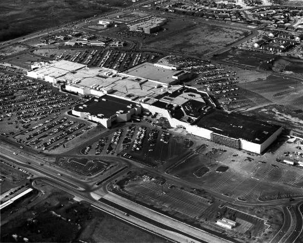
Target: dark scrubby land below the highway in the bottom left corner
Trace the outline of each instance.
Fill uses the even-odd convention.
[[[44,192],[1,211],[1,242],[165,242],[38,181]],[[10,213],[12,212],[12,213]]]

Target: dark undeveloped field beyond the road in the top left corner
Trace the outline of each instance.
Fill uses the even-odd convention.
[[[13,39],[61,23],[92,17],[123,6],[128,0],[3,0],[0,2],[0,41]]]

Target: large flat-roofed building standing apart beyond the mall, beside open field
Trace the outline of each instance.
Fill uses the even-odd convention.
[[[136,22],[132,25],[129,25],[128,28],[131,31],[144,32],[146,34],[151,34],[159,31],[161,26],[166,23],[165,18],[152,17],[149,19],[143,19],[140,22]]]

